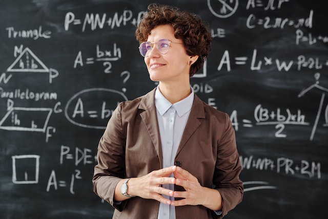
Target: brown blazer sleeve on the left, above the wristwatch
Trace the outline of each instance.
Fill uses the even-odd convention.
[[[93,191],[114,208],[122,211],[126,202],[114,201],[117,183],[125,177],[125,132],[121,123],[122,103],[114,110],[103,136],[100,138],[97,165],[92,179]]]

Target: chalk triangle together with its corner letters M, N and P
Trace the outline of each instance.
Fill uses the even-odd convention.
[[[52,83],[53,78],[59,75],[55,69],[48,68],[28,47],[23,50],[23,45],[14,48],[15,61],[8,67],[7,72],[14,73],[48,73],[49,84]],[[38,76],[38,75],[36,75]],[[2,74],[0,82],[7,84],[12,77],[12,74],[7,77]]]

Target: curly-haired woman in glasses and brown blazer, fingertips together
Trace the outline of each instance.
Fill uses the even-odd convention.
[[[116,108],[99,141],[94,192],[113,218],[222,217],[243,195],[235,133],[190,86],[211,33],[199,16],[153,4],[136,36],[159,84]]]

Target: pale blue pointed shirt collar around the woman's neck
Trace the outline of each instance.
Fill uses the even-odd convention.
[[[182,99],[181,101],[171,104],[167,98],[163,96],[163,94],[160,92],[158,86],[155,91],[155,106],[158,110],[160,115],[163,115],[168,111],[172,106],[175,108],[177,114],[179,117],[186,114],[188,111],[191,110],[191,107],[194,102],[194,89],[190,87],[191,94],[189,94],[186,98]]]

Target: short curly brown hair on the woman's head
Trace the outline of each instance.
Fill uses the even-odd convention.
[[[174,36],[181,39],[188,55],[198,55],[197,61],[190,67],[193,76],[202,66],[211,50],[212,35],[208,24],[199,15],[189,11],[180,11],[176,7],[151,4],[135,31],[137,40],[147,41],[151,31],[158,25],[172,25]]]

